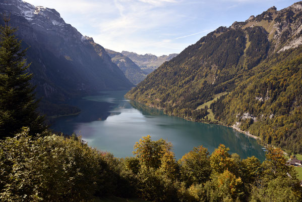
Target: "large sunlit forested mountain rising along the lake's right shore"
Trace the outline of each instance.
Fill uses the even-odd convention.
[[[126,95],[302,152],[302,2],[219,27]]]

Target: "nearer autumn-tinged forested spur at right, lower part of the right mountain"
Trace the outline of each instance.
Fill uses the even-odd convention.
[[[276,54],[256,67],[257,74],[212,104],[215,117],[228,125],[240,121],[242,130],[260,136],[263,142],[301,153],[301,53],[302,47]],[[239,118],[247,111],[256,121]]]

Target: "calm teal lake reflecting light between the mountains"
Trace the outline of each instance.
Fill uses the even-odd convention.
[[[132,156],[135,142],[151,135],[152,140],[163,138],[172,142],[176,159],[199,145],[212,153],[220,143],[243,159],[251,156],[265,159],[261,145],[243,133],[225,126],[164,115],[159,110],[126,100],[126,92],[106,91],[73,100],[70,104],[79,107],[82,113],[58,118],[52,129],[80,134],[90,146],[109,151],[115,157]]]

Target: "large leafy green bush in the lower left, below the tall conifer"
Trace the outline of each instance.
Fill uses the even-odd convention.
[[[86,201],[97,186],[98,153],[81,138],[33,138],[29,129],[0,142],[2,201]]]

